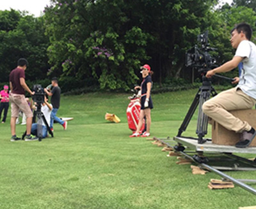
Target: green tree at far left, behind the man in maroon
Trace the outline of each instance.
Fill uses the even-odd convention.
[[[28,59],[28,80],[45,78],[49,69],[44,18],[19,11],[0,11],[0,82],[8,82],[10,71],[20,57]]]

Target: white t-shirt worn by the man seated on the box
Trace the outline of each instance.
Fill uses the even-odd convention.
[[[251,41],[241,41],[235,56],[244,57],[239,87],[245,94],[256,99],[256,46]]]

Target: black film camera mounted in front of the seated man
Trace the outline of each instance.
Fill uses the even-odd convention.
[[[209,47],[208,31],[197,36],[201,47],[195,45],[186,52],[185,66],[188,68],[196,68],[199,72],[207,72],[216,67],[216,59],[209,54],[216,48]]]

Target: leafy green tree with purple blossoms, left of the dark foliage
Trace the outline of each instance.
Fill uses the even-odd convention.
[[[54,71],[93,77],[102,89],[129,89],[136,82],[134,69],[148,58],[144,47],[149,36],[139,27],[122,27],[127,18],[118,3],[52,1],[45,8]]]

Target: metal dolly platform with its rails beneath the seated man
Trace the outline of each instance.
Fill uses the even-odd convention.
[[[225,145],[214,145],[211,143],[210,140],[206,140],[204,144],[198,144],[198,140],[193,138],[184,138],[181,136],[175,136],[173,140],[170,138],[166,139],[159,139],[154,138],[167,147],[172,147],[175,152],[179,152],[180,154],[184,155],[184,157],[191,159],[194,161],[198,166],[201,168],[207,169],[212,171],[226,180],[230,180],[234,184],[238,185],[239,187],[245,189],[248,192],[256,195],[256,189],[250,187],[244,182],[253,182],[255,183],[256,180],[248,180],[248,179],[236,179],[232,178],[229,175],[221,172],[220,170],[236,170],[236,171],[256,171],[256,158],[254,161],[250,161],[244,157],[239,157],[234,155],[233,153],[237,154],[255,154],[256,155],[256,147],[249,147],[249,148],[236,148],[234,146],[225,146]],[[176,143],[176,145],[174,145]],[[185,152],[186,148],[190,148],[192,150],[188,150]],[[193,151],[195,150],[195,151]],[[196,154],[197,153],[197,154]],[[194,155],[191,155],[194,154]],[[211,157],[206,157],[203,154],[209,154]],[[218,155],[217,157],[212,157],[212,155]],[[224,155],[225,158],[220,157],[220,155]],[[221,166],[212,166],[211,163],[214,162],[221,162]],[[232,166],[227,166],[227,164],[232,164]],[[223,166],[223,164],[225,166]],[[243,166],[241,166],[243,165]]]

